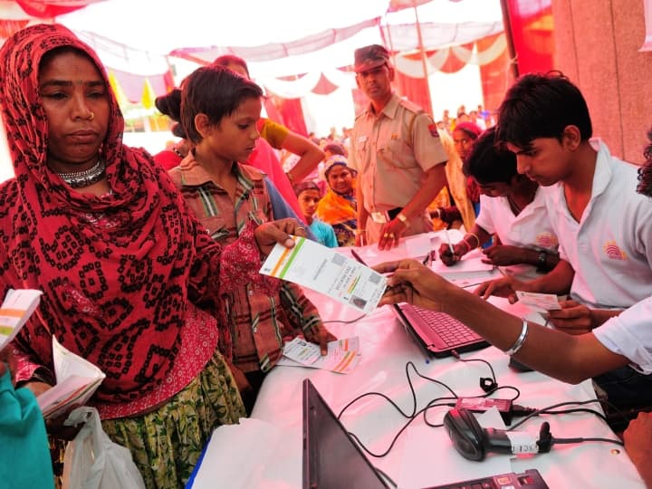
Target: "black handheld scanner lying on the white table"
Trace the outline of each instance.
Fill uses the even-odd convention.
[[[488,452],[513,454],[512,441],[503,429],[481,427],[468,409],[451,409],[444,416],[444,426],[455,450],[469,460],[483,460]],[[550,425],[544,422],[539,440],[532,446],[519,446],[517,453],[543,453],[551,449]]]

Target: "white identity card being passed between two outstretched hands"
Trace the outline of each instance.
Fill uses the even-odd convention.
[[[353,258],[299,236],[294,246],[275,245],[260,272],[298,283],[369,314],[385,292],[387,279]]]

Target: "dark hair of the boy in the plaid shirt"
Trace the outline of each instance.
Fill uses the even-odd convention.
[[[262,96],[258,85],[224,66],[198,68],[181,85],[181,125],[187,139],[196,144],[202,140],[195,127],[197,114],[206,114],[211,124],[219,124],[245,99]]]

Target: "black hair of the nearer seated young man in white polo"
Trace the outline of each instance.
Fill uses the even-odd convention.
[[[529,73],[505,94],[498,109],[496,142],[527,149],[533,139],[561,141],[563,130],[570,125],[580,129],[582,140],[593,134],[580,89],[561,72]]]

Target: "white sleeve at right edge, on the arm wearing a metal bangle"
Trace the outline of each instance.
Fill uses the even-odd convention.
[[[623,355],[631,367],[652,373],[652,297],[647,297],[593,330],[608,350]]]

